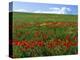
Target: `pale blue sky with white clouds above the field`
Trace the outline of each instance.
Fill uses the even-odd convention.
[[[11,10],[11,6],[9,7]],[[50,14],[78,14],[77,5],[62,5],[32,2],[13,2],[14,12],[50,13]]]

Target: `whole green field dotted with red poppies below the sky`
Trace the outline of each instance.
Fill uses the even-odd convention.
[[[78,53],[77,15],[13,13],[14,58]]]

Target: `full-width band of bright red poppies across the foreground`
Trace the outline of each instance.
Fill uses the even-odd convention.
[[[77,37],[74,36],[73,39],[77,40]],[[26,49],[34,48],[35,46],[38,46],[38,47],[47,46],[48,48],[54,48],[54,47],[56,47],[58,45],[63,45],[67,49],[69,49],[71,46],[78,46],[78,42],[72,42],[70,40],[70,35],[66,36],[66,41],[63,41],[63,40],[60,40],[60,39],[56,39],[56,40],[51,40],[48,43],[45,43],[42,40],[37,40],[37,41],[34,41],[34,40],[30,40],[30,41],[27,41],[27,40],[22,40],[22,41],[13,40],[12,44],[16,45],[16,46],[23,46]]]

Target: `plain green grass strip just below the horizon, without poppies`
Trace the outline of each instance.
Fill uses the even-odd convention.
[[[35,13],[13,13],[13,19],[26,22],[76,22],[77,15],[63,15],[63,14],[35,14]]]

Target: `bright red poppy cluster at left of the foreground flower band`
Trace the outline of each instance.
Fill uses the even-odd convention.
[[[34,48],[35,46],[39,46],[39,47],[42,47],[44,46],[44,42],[43,41],[13,41],[12,43],[13,45],[16,45],[16,46],[23,46],[25,47],[26,49],[29,49],[29,48]]]

